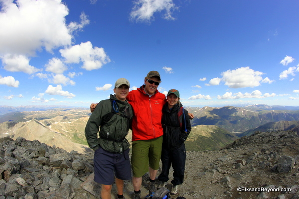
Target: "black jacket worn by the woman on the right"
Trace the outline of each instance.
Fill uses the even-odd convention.
[[[185,114],[181,114],[178,118],[181,107],[183,107],[183,105],[180,102],[173,106],[171,110],[168,108],[168,103],[163,106],[163,147],[176,148],[181,146],[191,132],[188,111],[183,109]],[[182,126],[180,126],[180,124],[182,124]],[[187,132],[185,132],[185,130],[187,130]]]

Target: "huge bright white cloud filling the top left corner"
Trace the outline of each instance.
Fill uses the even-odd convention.
[[[35,55],[36,50],[70,45],[61,0],[1,0],[0,54]],[[21,34],[20,34],[21,33]]]

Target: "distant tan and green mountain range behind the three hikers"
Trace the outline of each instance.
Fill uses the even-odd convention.
[[[0,106],[0,110],[1,107],[3,106]],[[192,131],[186,140],[188,151],[219,150],[238,137],[251,135],[255,131],[296,131],[297,128],[298,132],[299,127],[299,110],[272,110],[282,107],[262,104],[244,108],[234,106],[185,108],[195,116],[191,120]],[[65,107],[10,112],[0,116],[0,137],[37,139],[66,151],[86,153],[90,149],[87,146],[84,129],[90,114],[90,110],[86,108]],[[129,142],[131,136],[132,132],[129,131],[127,135]]]

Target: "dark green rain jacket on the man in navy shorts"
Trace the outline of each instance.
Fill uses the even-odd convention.
[[[110,95],[110,99],[115,100],[119,108],[119,113],[129,111],[128,119],[118,114],[113,114],[112,118],[104,125],[101,125],[104,116],[111,112],[111,101],[102,100],[96,106],[85,127],[85,137],[87,143],[94,151],[100,147],[112,153],[122,153],[129,148],[129,142],[125,138],[133,117],[133,110],[128,101],[120,101],[115,95]],[[100,132],[99,132],[100,128]],[[99,132],[99,136],[98,136]]]

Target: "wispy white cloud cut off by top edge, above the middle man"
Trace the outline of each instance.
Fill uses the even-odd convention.
[[[153,14],[162,11],[166,12],[164,19],[174,20],[172,11],[177,9],[172,0],[135,0],[133,3],[130,18],[137,22],[154,20]]]

